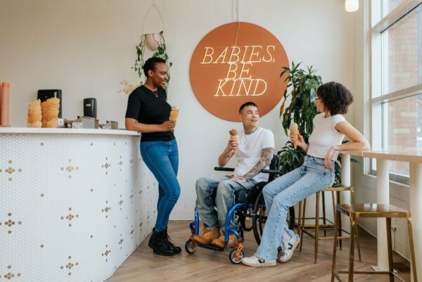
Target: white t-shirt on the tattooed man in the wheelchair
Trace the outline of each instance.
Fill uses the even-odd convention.
[[[258,127],[254,133],[249,135],[241,130],[238,132],[238,140],[239,146],[236,153],[238,164],[234,169],[234,174],[243,177],[261,159],[263,148],[274,148],[274,134],[268,129]],[[268,181],[268,174],[260,172],[252,179],[257,182]]]

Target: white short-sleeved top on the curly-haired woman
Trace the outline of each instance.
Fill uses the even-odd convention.
[[[333,115],[325,117],[325,113],[320,113],[314,117],[314,130],[309,136],[308,155],[317,158],[325,158],[328,150],[332,146],[341,145],[345,135],[335,130],[335,124],[343,122],[343,115]],[[335,152],[331,160],[337,160],[338,152]]]

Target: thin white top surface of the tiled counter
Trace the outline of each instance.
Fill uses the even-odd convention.
[[[31,128],[31,127],[0,127],[0,134],[100,134],[141,136],[139,132],[123,129],[72,129],[72,128]]]

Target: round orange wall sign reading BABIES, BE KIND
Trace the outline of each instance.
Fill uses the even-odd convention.
[[[238,108],[257,103],[260,115],[272,110],[286,90],[286,51],[268,30],[252,23],[221,25],[196,46],[189,77],[199,103],[212,115],[238,122]]]

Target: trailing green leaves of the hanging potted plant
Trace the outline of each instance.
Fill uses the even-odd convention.
[[[167,90],[167,86],[170,82],[170,68],[172,67],[173,63],[169,62],[169,56],[167,55],[167,46],[165,44],[165,39],[163,36],[163,31],[160,31],[158,33],[160,35],[160,39],[158,41],[158,49],[157,51],[155,51],[155,53],[153,53],[152,57],[159,57],[159,58],[163,58],[167,61],[167,67],[169,68],[169,73],[167,75],[168,79],[167,79],[167,84],[165,86],[165,89]],[[139,42],[138,45],[136,45],[136,60],[134,63],[134,66],[132,67],[132,69],[135,70],[135,72],[138,74],[139,79],[141,81],[141,84],[143,84],[143,79],[146,79],[143,75],[143,64],[145,63],[144,60],[144,56],[146,56],[145,54],[145,37],[146,34],[142,34],[141,35],[141,41]],[[143,78],[144,77],[144,78]]]

